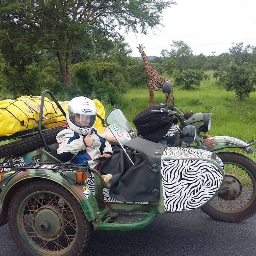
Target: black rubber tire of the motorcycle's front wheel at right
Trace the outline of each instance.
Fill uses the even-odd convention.
[[[250,171],[252,178],[256,180],[256,164],[249,157],[235,153],[235,152],[220,152],[220,153],[217,153],[217,155],[220,157],[220,159],[224,164],[231,162],[234,164],[239,164],[241,166],[244,166],[244,168]],[[237,212],[237,213],[219,212],[216,209],[213,209],[210,204],[205,204],[203,207],[201,207],[201,209],[206,214],[208,214],[209,216],[211,216],[216,220],[221,220],[225,222],[238,222],[241,220],[246,220],[256,213],[256,197],[252,202],[252,204],[242,212]]]

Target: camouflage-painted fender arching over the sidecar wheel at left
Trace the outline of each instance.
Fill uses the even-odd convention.
[[[45,179],[52,180],[64,188],[66,188],[79,202],[81,205],[84,215],[86,216],[88,221],[94,220],[98,216],[99,207],[97,201],[87,186],[82,186],[77,183],[70,184],[68,180],[62,177],[58,172],[53,172],[52,170],[35,170],[29,169],[24,172],[19,172],[15,175],[9,182],[6,182],[6,185],[3,186],[1,196],[0,196],[0,212],[3,212],[4,208],[4,199],[11,189],[15,189],[15,185],[19,182],[29,182],[31,179]],[[5,206],[6,207],[6,206]]]

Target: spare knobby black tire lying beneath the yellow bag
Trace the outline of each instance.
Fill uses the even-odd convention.
[[[44,138],[47,144],[56,142],[56,135],[63,130],[63,127],[56,127],[51,130],[45,131]],[[37,148],[43,147],[43,141],[39,134],[29,136],[27,138],[17,140],[3,146],[0,146],[0,158],[9,156],[19,156]]]

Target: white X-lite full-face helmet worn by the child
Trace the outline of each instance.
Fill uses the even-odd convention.
[[[86,135],[92,130],[96,121],[97,108],[92,100],[86,97],[75,97],[67,107],[68,126],[80,135]]]

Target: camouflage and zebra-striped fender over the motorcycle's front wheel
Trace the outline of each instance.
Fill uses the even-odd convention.
[[[239,140],[237,138],[229,137],[229,136],[214,136],[204,140],[202,142],[202,145],[205,146],[207,150],[211,152],[220,150],[223,148],[241,148],[247,154],[251,154],[253,152],[252,146],[249,146],[248,143],[244,142],[243,140]],[[247,146],[247,147],[244,147],[244,146]]]

